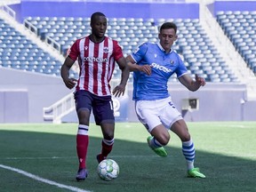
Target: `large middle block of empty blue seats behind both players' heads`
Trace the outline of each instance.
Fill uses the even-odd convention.
[[[143,42],[156,43],[158,28],[164,21],[174,21],[177,24],[179,38],[173,49],[180,53],[191,74],[204,76],[208,82],[237,81],[237,77],[220,57],[199,20],[109,18],[107,35],[118,40],[127,55]],[[53,39],[59,43],[63,55],[77,37],[86,36],[91,32],[90,18],[28,17],[24,24],[26,27],[35,26],[41,39]],[[115,76],[119,77],[118,71],[115,71]],[[170,81],[175,82],[177,78],[172,76]]]

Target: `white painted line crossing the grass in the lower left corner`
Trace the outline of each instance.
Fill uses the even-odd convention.
[[[52,185],[52,186],[56,186],[58,188],[66,188],[70,191],[75,191],[75,192],[91,192],[91,191],[88,191],[88,190],[84,190],[82,188],[76,188],[76,187],[72,187],[72,186],[67,186],[67,185],[63,185],[63,184],[60,184],[60,183],[57,183],[55,181],[52,181],[52,180],[46,180],[44,178],[41,178],[41,177],[38,177],[34,174],[31,174],[29,172],[24,172],[20,169],[16,169],[16,168],[13,168],[13,167],[10,167],[10,166],[5,166],[4,164],[0,164],[0,167],[4,168],[4,169],[7,169],[7,170],[10,170],[12,172],[18,172],[22,175],[25,175],[26,177],[28,178],[31,178],[33,180],[38,180],[40,182],[44,182],[46,184],[49,184],[49,185]]]

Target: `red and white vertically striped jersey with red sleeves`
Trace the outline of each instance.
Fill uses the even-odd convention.
[[[110,84],[115,60],[124,57],[116,40],[105,36],[101,43],[93,43],[89,36],[77,39],[68,56],[78,59],[80,74],[76,90],[86,90],[95,95],[111,95]]]

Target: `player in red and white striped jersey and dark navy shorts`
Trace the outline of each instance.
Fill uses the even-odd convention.
[[[91,17],[92,33],[77,39],[68,52],[68,57],[61,67],[61,77],[69,89],[76,86],[75,100],[78,116],[78,132],[76,135],[76,152],[79,169],[76,180],[85,180],[86,155],[89,144],[89,124],[91,111],[95,123],[100,125],[103,139],[101,153],[97,156],[100,163],[111,152],[114,144],[115,117],[111,94],[116,97],[124,95],[129,78],[129,68],[124,59],[122,48],[116,40],[105,36],[107,18],[101,12],[94,12]],[[78,60],[79,78],[69,77],[69,70]],[[122,71],[121,82],[111,93],[110,80],[115,63]]]

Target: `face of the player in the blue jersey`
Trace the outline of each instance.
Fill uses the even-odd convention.
[[[160,44],[164,48],[164,51],[170,52],[172,44],[176,41],[177,36],[173,28],[166,28],[162,29],[158,38],[160,39]]]

